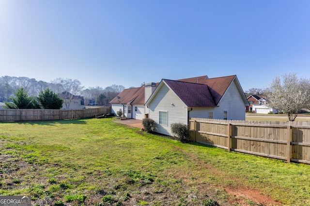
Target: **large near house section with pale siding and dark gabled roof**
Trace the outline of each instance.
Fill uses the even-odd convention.
[[[248,101],[236,75],[181,80],[162,79],[145,105],[156,122],[155,132],[172,135],[172,123],[189,118],[245,120]]]

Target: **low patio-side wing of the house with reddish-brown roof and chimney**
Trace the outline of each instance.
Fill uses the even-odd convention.
[[[151,96],[155,88],[155,83],[148,83],[140,88],[124,89],[109,102],[111,104],[112,114],[117,116],[116,112],[121,109],[126,118],[145,118],[147,108],[144,106],[144,103]]]

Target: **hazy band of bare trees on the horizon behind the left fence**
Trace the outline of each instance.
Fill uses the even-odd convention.
[[[107,105],[124,90],[121,85],[111,85],[106,88],[84,88],[80,81],[69,78],[56,78],[47,83],[29,77],[2,76],[0,77],[0,102],[12,102],[12,98],[16,98],[18,88],[23,88],[30,98],[37,97],[40,92],[47,88],[56,94],[67,91],[72,95],[83,96],[85,105]]]

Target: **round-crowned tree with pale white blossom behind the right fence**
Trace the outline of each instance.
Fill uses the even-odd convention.
[[[287,114],[294,121],[303,108],[310,104],[310,80],[297,78],[296,74],[283,74],[273,79],[267,100],[269,106]]]

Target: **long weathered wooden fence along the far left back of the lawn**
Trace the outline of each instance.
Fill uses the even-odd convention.
[[[98,113],[111,113],[111,107],[95,107],[87,109],[1,109],[0,121],[35,121],[59,120],[74,118],[93,118]]]

